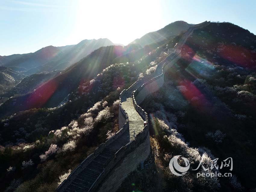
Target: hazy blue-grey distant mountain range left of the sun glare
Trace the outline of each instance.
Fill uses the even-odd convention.
[[[25,69],[28,75],[43,71],[63,70],[92,51],[109,45],[114,45],[109,39],[85,39],[77,45],[48,46],[34,53],[0,56],[0,62],[6,67],[15,67],[16,70]]]

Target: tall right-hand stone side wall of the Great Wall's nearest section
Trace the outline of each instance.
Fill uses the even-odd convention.
[[[130,88],[136,85],[140,80],[135,82]],[[129,89],[129,88],[128,88]],[[127,90],[128,90],[127,89]],[[125,94],[125,93],[123,93]],[[121,94],[120,94],[121,95]],[[120,103],[121,104],[121,103]],[[106,171],[111,169],[105,179],[103,180],[97,191],[107,192],[107,191],[117,191],[118,187],[122,184],[123,180],[137,167],[143,163],[150,154],[150,141],[149,141],[149,125],[148,125],[148,115],[147,113],[138,105],[133,97],[133,105],[139,115],[145,122],[144,129],[135,136],[134,141],[130,141],[125,147],[122,147],[115,154],[115,158],[109,163],[111,167],[105,168]],[[122,105],[120,105],[120,110],[122,111]],[[119,116],[122,119],[122,116]],[[114,169],[112,169],[114,167]]]

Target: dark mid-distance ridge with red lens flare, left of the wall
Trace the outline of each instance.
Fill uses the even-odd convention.
[[[112,64],[116,58],[125,57],[129,53],[136,53],[140,48],[139,45],[100,47],[47,82],[38,83],[35,91],[13,98],[15,103],[12,102],[13,99],[6,101],[0,106],[2,112],[0,116],[31,108],[56,107],[68,94],[76,91],[81,83],[93,79],[103,69]],[[36,76],[38,78],[37,74]],[[31,77],[25,78],[24,83],[22,81],[20,85],[27,86],[27,83],[31,83],[33,80]],[[22,89],[21,86],[17,85],[17,87]],[[29,86],[30,90],[33,89],[31,87]]]

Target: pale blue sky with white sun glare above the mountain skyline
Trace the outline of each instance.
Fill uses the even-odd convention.
[[[127,45],[177,20],[226,21],[256,34],[255,18],[255,0],[0,0],[0,55],[83,39]]]

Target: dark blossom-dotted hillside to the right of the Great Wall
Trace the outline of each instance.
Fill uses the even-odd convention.
[[[172,156],[193,159],[203,153],[205,161],[218,158],[219,166],[223,159],[233,158],[234,169],[219,169],[222,174],[231,172],[232,178],[213,179],[200,189],[255,189],[255,46],[256,36],[232,23],[210,23],[194,30],[182,48],[182,59],[168,70],[164,86],[141,105],[153,117],[152,135],[163,158],[158,161],[164,167],[167,191],[197,190],[193,171],[173,178],[168,166]],[[217,182],[215,189],[207,188]]]

